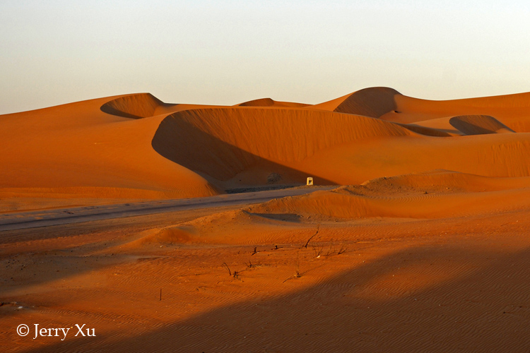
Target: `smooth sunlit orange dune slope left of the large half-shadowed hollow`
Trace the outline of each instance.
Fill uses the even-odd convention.
[[[143,102],[149,95],[122,97]],[[163,116],[129,119],[100,107],[109,99],[0,116],[4,193],[60,197],[191,197],[216,193],[194,172],[151,148]],[[129,112],[140,114],[138,109]],[[143,109],[147,112],[148,109]]]

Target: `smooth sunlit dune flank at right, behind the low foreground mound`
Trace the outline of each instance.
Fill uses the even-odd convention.
[[[325,171],[336,184],[448,169],[488,177],[530,175],[530,140],[524,133],[476,136],[370,138],[322,150],[295,164],[308,174]]]

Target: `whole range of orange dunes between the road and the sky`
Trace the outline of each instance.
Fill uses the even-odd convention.
[[[526,177],[529,114],[529,93],[428,101],[367,88],[316,105],[235,107],[100,98],[0,116],[0,195],[179,198],[432,169]]]

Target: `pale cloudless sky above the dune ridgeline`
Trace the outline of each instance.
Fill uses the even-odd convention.
[[[529,1],[0,0],[0,114],[135,92],[317,104],[530,91]]]

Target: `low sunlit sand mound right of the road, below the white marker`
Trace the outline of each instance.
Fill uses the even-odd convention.
[[[510,180],[435,171],[276,199],[248,210],[338,218],[462,217],[528,208],[529,196],[529,177]]]

